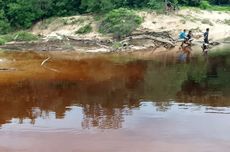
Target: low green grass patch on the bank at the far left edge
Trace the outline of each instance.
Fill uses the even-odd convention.
[[[0,45],[11,41],[35,41],[38,40],[38,36],[26,31],[18,31],[15,33],[9,33],[6,35],[0,35]]]

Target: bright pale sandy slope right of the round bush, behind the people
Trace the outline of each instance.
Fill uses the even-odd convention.
[[[210,28],[210,39],[217,41],[230,36],[230,12],[181,10],[170,16],[143,13],[145,22],[142,28],[162,31],[169,30],[174,37],[183,30],[192,30],[198,40],[206,28]]]

